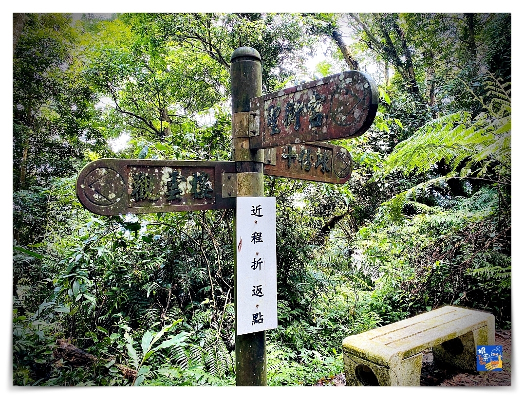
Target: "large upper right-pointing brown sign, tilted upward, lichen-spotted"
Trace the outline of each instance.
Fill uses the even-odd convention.
[[[377,107],[377,85],[359,71],[252,98],[250,148],[357,137],[369,129]]]

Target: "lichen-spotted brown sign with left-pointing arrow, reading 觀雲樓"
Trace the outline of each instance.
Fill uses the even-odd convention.
[[[235,162],[99,159],[80,172],[77,197],[99,215],[232,209],[223,172],[235,172]]]

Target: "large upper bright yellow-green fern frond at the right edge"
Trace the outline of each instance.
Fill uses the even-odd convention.
[[[494,98],[488,104],[476,97],[486,108],[472,118],[472,114],[459,111],[433,119],[416,133],[400,142],[385,163],[385,172],[428,172],[433,164],[444,160],[453,172],[470,168],[475,177],[486,174],[489,162],[509,168],[511,159],[511,97],[509,85],[502,85],[493,75],[486,85]],[[467,88],[470,90],[470,88]],[[473,93],[473,91],[471,91]],[[463,163],[465,162],[465,165]],[[476,168],[475,163],[481,163]],[[483,164],[482,164],[483,163]],[[462,166],[461,166],[462,165]]]

